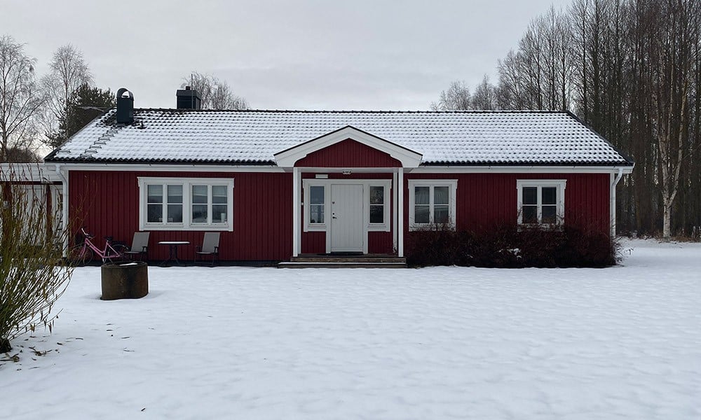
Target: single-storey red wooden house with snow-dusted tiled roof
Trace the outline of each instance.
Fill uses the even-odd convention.
[[[204,111],[118,106],[46,158],[64,223],[119,239],[221,232],[222,260],[402,256],[410,230],[577,218],[615,232],[626,155],[567,112]]]

